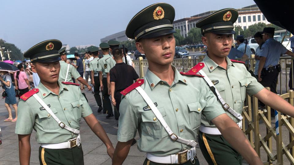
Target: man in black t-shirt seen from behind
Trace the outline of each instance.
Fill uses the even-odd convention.
[[[135,81],[139,80],[139,76],[135,69],[123,62],[123,53],[120,48],[112,50],[112,55],[116,62],[115,66],[110,69],[110,92],[111,101],[119,111],[119,104],[121,101],[121,91],[132,85]]]

